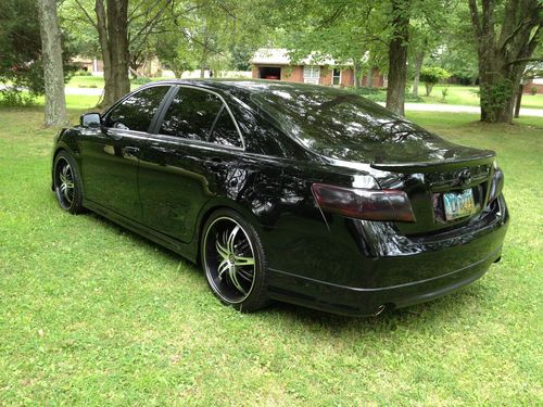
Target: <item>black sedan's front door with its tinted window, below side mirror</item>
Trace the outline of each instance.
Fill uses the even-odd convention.
[[[141,220],[138,164],[143,141],[171,86],[139,90],[113,106],[101,129],[81,136],[85,198]]]

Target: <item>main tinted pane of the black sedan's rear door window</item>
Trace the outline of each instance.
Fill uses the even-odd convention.
[[[198,89],[180,88],[164,116],[160,132],[206,141],[223,101]]]

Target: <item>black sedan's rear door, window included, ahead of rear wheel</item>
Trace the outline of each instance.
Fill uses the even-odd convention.
[[[179,86],[169,99],[140,155],[143,222],[190,242],[202,206],[228,195],[243,140],[219,94]]]

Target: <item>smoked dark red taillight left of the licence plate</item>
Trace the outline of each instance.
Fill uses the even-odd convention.
[[[366,220],[415,221],[407,194],[391,189],[343,188],[326,183],[312,186],[321,211]]]

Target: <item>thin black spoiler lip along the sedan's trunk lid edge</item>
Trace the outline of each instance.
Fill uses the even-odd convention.
[[[402,173],[430,173],[434,170],[458,168],[462,165],[481,165],[491,162],[496,153],[491,150],[485,150],[482,154],[466,158],[450,158],[439,162],[415,162],[415,163],[371,163],[371,168],[386,171],[402,171]]]

